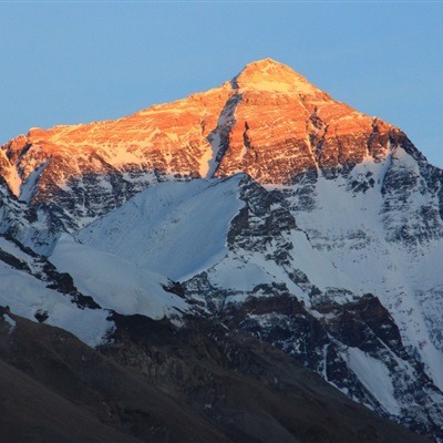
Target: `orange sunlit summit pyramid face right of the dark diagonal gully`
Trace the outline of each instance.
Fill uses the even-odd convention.
[[[385,155],[393,126],[332,100],[290,68],[264,60],[233,80],[237,106],[216,175],[246,172],[262,184],[337,175]]]

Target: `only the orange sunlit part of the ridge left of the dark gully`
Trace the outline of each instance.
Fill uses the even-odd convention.
[[[209,159],[206,136],[228,95],[229,87],[222,86],[116,121],[55,126],[48,131],[32,128],[2,150],[16,165],[23,185],[49,159],[51,164],[44,167],[42,178],[58,166],[68,169],[63,176],[60,173],[53,177],[55,185],[79,174],[101,173],[110,167],[121,172],[134,168],[197,175],[205,173],[199,164]]]

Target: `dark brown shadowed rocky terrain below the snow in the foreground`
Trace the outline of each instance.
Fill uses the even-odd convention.
[[[240,332],[117,316],[100,352],[0,318],[2,441],[424,442]],[[107,357],[105,357],[107,356]]]

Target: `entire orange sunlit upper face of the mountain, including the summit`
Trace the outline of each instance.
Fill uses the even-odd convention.
[[[75,188],[93,217],[92,187],[117,206],[113,190],[131,195],[165,174],[246,172],[289,184],[306,171],[333,174],[382,157],[391,131],[267,59],[219,87],[116,121],[32,128],[2,146],[0,167],[20,199],[44,204]]]

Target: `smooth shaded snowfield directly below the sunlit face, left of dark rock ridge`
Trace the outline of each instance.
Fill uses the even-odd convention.
[[[158,184],[76,238],[174,280],[186,279],[227,254],[229,223],[244,205],[237,198],[243,177]]]

